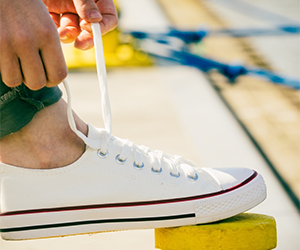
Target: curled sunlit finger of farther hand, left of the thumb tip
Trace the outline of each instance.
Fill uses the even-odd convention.
[[[63,43],[73,42],[80,34],[79,17],[76,14],[65,13],[60,18],[58,33]]]

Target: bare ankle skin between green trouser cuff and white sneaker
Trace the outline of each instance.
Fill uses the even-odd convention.
[[[0,140],[0,162],[35,169],[69,165],[85,151],[84,142],[70,129],[66,102],[39,111],[20,131]],[[87,125],[76,115],[79,131],[87,134]]]

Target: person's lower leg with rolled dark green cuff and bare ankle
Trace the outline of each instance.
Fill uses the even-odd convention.
[[[76,161],[85,145],[70,129],[61,91],[0,82],[0,162],[24,168],[55,168]],[[87,125],[75,116],[78,129]]]

